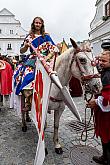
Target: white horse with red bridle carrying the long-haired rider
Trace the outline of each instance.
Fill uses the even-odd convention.
[[[57,57],[56,60],[55,70],[57,71],[62,86],[68,86],[69,80],[74,76],[81,82],[82,78],[87,79],[90,91],[97,93],[101,89],[101,81],[100,78],[92,78],[98,71],[96,67],[91,65],[93,61],[91,51],[78,49],[74,41],[72,41],[72,45],[75,48],[68,49]],[[52,84],[51,87],[48,108],[49,110],[54,110],[54,146],[55,152],[61,154],[63,150],[59,143],[58,128],[60,117],[65,109],[65,104],[62,100],[62,94],[55,84]]]

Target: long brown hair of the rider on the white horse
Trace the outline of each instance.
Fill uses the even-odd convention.
[[[44,37],[44,35],[45,35],[44,20],[41,17],[35,17],[33,19],[33,22],[31,24],[30,34],[34,35],[35,32],[36,32],[35,25],[34,25],[36,19],[39,19],[41,21],[41,23],[42,23],[42,26],[41,26],[41,29],[40,29],[40,33]]]

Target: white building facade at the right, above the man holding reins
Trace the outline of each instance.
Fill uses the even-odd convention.
[[[102,40],[110,39],[110,0],[97,0],[95,6],[96,13],[90,24],[89,39],[93,53],[97,56],[102,52]]]

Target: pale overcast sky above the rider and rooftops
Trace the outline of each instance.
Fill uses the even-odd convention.
[[[0,10],[8,9],[27,31],[34,17],[40,16],[55,43],[63,38],[69,43],[70,38],[75,41],[89,38],[95,3],[96,0],[0,0]]]

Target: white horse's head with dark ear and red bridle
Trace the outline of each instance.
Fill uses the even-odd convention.
[[[97,94],[101,90],[101,80],[97,67],[94,65],[93,54],[90,49],[80,49],[71,39],[73,49],[73,59],[71,72],[78,78],[85,87],[86,92]]]

